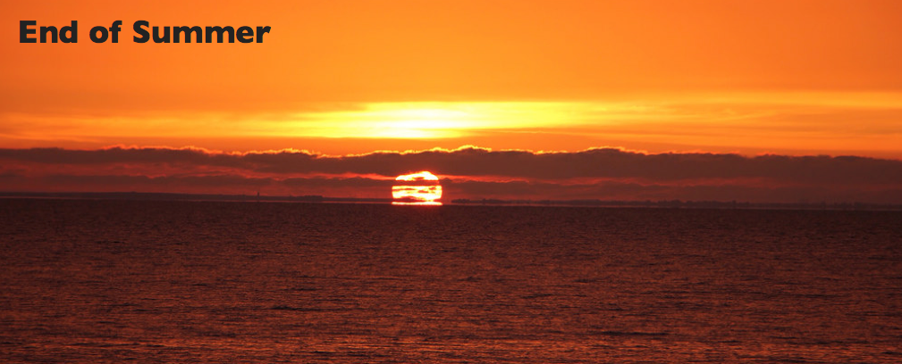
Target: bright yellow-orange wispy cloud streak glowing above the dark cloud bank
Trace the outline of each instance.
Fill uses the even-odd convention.
[[[855,150],[858,155],[902,155],[897,142],[902,135],[897,123],[902,118],[902,93],[898,92],[696,92],[578,101],[308,103],[294,111],[271,113],[46,113],[0,113],[0,143],[83,148],[110,141],[149,145],[149,139],[182,139],[225,149],[221,146],[236,138],[258,145],[295,138],[328,140],[338,150],[344,146],[342,153],[346,153],[359,140],[391,140],[401,149],[410,148],[405,145],[420,148],[423,140],[432,145],[457,140],[488,146],[517,140],[518,148],[570,151],[592,145],[669,144],[684,147],[676,150],[732,148],[745,154],[808,150],[836,155]],[[540,141],[523,140],[524,134],[535,134]]]

